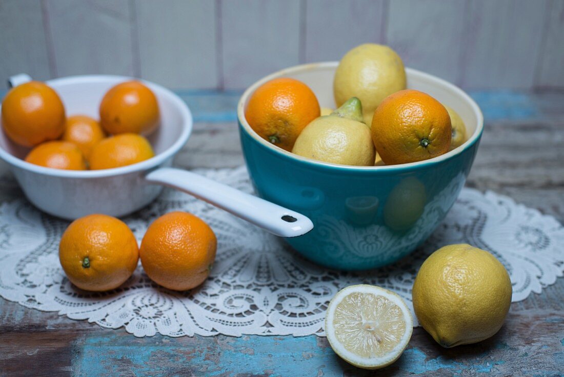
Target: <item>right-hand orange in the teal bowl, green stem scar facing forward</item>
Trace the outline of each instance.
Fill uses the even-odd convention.
[[[386,165],[431,159],[448,152],[451,119],[438,100],[406,89],[386,97],[374,111],[372,141]]]

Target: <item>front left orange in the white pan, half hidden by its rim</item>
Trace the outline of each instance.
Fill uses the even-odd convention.
[[[86,160],[73,143],[52,141],[39,144],[25,157],[25,161],[46,168],[64,170],[85,170]]]

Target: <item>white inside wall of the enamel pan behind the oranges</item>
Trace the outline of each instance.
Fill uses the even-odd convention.
[[[127,80],[133,79],[122,76],[74,76],[50,80],[47,84],[59,94],[67,116],[87,115],[99,120],[98,109],[104,94],[112,86]],[[182,137],[189,122],[186,122],[186,113],[179,106],[179,99],[173,93],[151,82],[144,81],[144,84],[155,93],[160,108],[160,127],[148,137],[155,154],[158,155]],[[0,148],[20,159],[25,158],[29,152],[29,148],[12,142],[3,128],[0,131]]]

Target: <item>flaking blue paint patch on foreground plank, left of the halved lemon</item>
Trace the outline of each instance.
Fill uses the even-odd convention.
[[[122,366],[134,367],[134,375],[170,376],[170,369],[190,376],[316,376],[323,370],[340,370],[340,360],[331,348],[318,347],[315,336],[253,336],[227,338],[213,347],[184,348],[176,339],[156,336],[155,341],[130,339],[124,344],[122,336],[108,331],[108,335],[87,337],[73,369],[78,376],[111,376],[124,371]],[[214,340],[211,338],[210,340]],[[124,363],[116,362],[123,360]],[[323,361],[321,361],[323,360]],[[323,375],[323,374],[321,374]],[[334,374],[325,374],[334,375]]]

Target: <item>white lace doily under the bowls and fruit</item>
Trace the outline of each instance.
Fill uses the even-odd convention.
[[[198,173],[251,192],[246,170]],[[211,275],[188,292],[152,283],[139,265],[122,287],[106,293],[78,290],[65,278],[58,245],[68,222],[18,199],[0,205],[0,295],[28,308],[56,311],[135,336],[243,334],[324,335],[325,308],[350,284],[393,290],[411,307],[421,263],[445,244],[469,243],[495,254],[508,269],[513,301],[540,293],[564,271],[564,227],[553,217],[505,196],[464,188],[442,225],[410,256],[363,273],[327,270],[308,262],[283,240],[182,192],[165,189],[158,200],[125,222],[140,241],[149,223],[169,211],[204,218],[218,237]],[[415,317],[414,317],[415,318]]]

